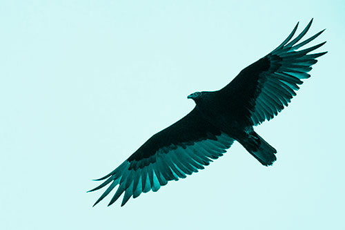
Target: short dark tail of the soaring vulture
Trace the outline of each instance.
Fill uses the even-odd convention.
[[[275,148],[270,146],[270,144],[254,131],[250,132],[246,139],[240,141],[240,143],[264,166],[272,165],[277,160],[277,157],[275,157],[275,153],[277,153]]]

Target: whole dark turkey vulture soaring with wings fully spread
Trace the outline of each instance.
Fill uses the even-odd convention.
[[[94,206],[115,188],[108,206],[124,193],[121,206],[132,196],[158,191],[170,180],[186,178],[221,157],[236,140],[264,166],[272,165],[277,151],[255,133],[253,126],[272,119],[296,95],[302,79],[316,58],[326,52],[308,54],[326,41],[299,50],[324,30],[299,42],[311,27],[313,19],[295,38],[297,25],[275,50],[244,68],[221,90],[192,93],[195,101],[188,115],[156,133],[120,166],[98,180],[106,180],[96,191],[110,184]],[[299,42],[299,43],[298,43]],[[297,44],[298,43],[298,44]]]

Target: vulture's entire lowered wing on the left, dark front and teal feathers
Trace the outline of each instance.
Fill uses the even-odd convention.
[[[106,180],[91,191],[108,186],[94,206],[119,185],[110,204],[125,193],[121,206],[132,196],[158,191],[170,180],[186,178],[217,159],[234,140],[201,117],[197,108],[172,126],[150,137],[117,169],[99,180]]]

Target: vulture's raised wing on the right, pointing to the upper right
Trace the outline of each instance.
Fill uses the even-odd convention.
[[[317,62],[316,58],[326,52],[308,54],[323,46],[326,41],[311,48],[299,48],[313,41],[324,30],[316,35],[299,42],[311,27],[313,19],[306,28],[295,38],[297,25],[288,37],[275,50],[244,68],[232,82],[217,91],[227,102],[234,117],[246,119],[246,124],[257,125],[270,120],[277,115],[284,106],[288,106],[290,99],[296,95],[295,91],[302,84],[302,79],[311,77],[308,72]],[[291,40],[292,39],[292,40]],[[299,44],[297,44],[299,42]]]

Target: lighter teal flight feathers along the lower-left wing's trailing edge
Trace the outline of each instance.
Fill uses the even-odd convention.
[[[226,134],[221,133],[219,136],[223,135]],[[204,166],[212,161],[211,159],[217,159],[223,155],[225,149],[230,147],[233,142],[234,140],[231,138],[217,142],[217,144],[213,140],[201,140],[186,145],[186,148],[182,146],[171,148],[168,153],[158,151],[156,153],[157,160],[142,169],[129,169],[130,162],[126,160],[126,167],[121,169],[121,173],[117,176],[111,175],[106,182],[91,190],[96,191],[112,182],[94,206],[103,200],[117,185],[119,187],[108,205],[113,204],[122,193],[124,193],[124,198],[121,206],[124,206],[130,197],[137,198],[141,193],[147,193],[150,190],[158,191],[161,186],[168,184],[170,180],[186,178],[186,175],[204,169]]]

